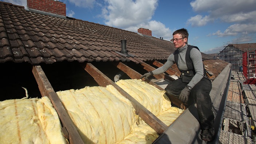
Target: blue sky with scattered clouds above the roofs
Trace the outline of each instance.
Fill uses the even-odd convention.
[[[27,0],[0,0],[27,8]],[[219,53],[227,44],[256,43],[256,0],[59,0],[67,16],[172,39],[187,28],[188,43],[204,53]]]

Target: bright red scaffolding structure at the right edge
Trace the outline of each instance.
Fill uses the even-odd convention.
[[[243,53],[243,75],[246,79],[244,84],[256,84],[256,53],[245,51]]]

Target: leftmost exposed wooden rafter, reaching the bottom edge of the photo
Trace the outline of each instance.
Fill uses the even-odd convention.
[[[41,95],[49,97],[53,107],[56,109],[60,117],[61,123],[63,124],[64,128],[67,129],[70,144],[84,144],[78,131],[75,128],[75,125],[73,124],[72,120],[68,116],[68,113],[65,111],[65,108],[63,107],[56,92],[53,90],[52,85],[47,79],[41,66],[40,65],[33,66],[32,72],[33,72],[33,75],[35,76]]]

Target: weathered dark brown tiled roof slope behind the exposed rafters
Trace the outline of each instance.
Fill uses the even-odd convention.
[[[72,18],[27,11],[0,2],[0,63],[56,61],[130,61],[120,55],[121,40],[137,60],[166,60],[175,48],[170,41]],[[203,59],[211,59],[202,53]]]

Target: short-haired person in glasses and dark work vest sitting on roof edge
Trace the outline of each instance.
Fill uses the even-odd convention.
[[[162,67],[145,73],[141,79],[161,74],[176,63],[181,76],[168,84],[165,91],[169,95],[177,96],[185,104],[192,104],[195,100],[201,126],[201,139],[211,141],[214,137],[214,115],[209,96],[212,83],[205,76],[206,71],[201,52],[197,47],[188,45],[187,29],[178,29],[172,35],[171,41],[177,48],[175,52],[168,57],[167,62]]]

